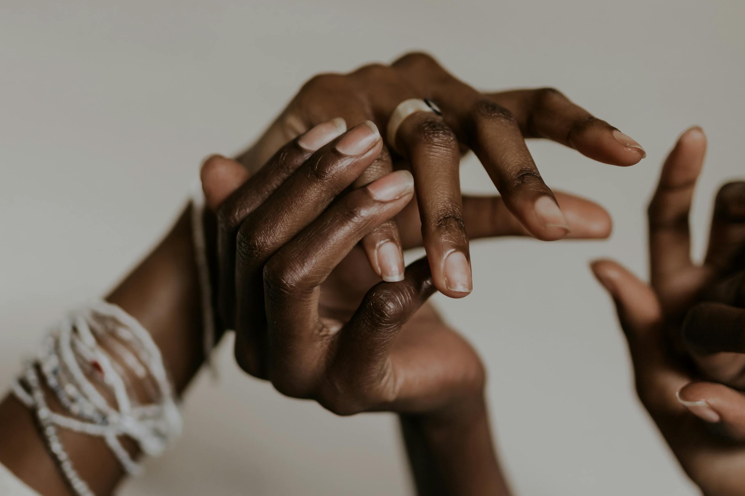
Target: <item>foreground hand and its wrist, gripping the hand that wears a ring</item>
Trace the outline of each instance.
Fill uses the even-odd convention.
[[[481,361],[423,304],[434,292],[429,264],[419,260],[403,280],[380,283],[358,245],[413,198],[405,170],[349,187],[381,149],[374,124],[342,135],[329,121],[282,147],[253,177],[235,161],[206,161],[206,200],[221,219],[221,318],[236,329],[241,368],[282,393],[339,414],[401,414],[420,494],[507,494]],[[575,236],[609,232],[596,204],[567,195],[559,202]],[[525,233],[501,199],[470,204],[470,236]]]

